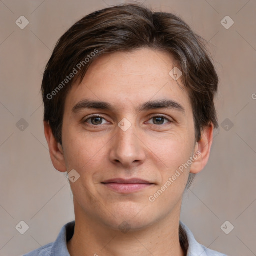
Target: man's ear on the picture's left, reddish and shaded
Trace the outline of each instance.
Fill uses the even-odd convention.
[[[65,165],[63,148],[61,144],[57,142],[56,138],[54,137],[49,123],[46,121],[43,121],[43,125],[44,125],[44,134],[48,143],[50,158],[53,163],[53,166],[58,171],[65,172],[66,165]]]

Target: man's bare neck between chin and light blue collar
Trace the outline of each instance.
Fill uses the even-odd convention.
[[[71,256],[184,256],[179,243],[180,208],[172,213],[143,230],[125,232],[111,229],[75,210],[75,230],[67,248]]]

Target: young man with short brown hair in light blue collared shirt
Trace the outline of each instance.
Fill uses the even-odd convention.
[[[139,5],[91,13],[46,66],[44,131],[75,222],[32,255],[223,255],[179,221],[206,165],[218,77],[189,26]]]

